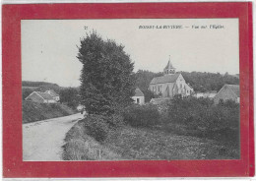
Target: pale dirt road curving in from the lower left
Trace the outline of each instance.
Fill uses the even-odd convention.
[[[79,113],[23,124],[23,160],[62,160],[65,134],[82,117]]]

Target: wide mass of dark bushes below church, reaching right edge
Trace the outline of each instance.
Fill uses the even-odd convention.
[[[180,125],[180,132],[185,128],[187,135],[238,143],[239,104],[226,101],[215,105],[207,98],[176,97],[168,105],[164,125]]]

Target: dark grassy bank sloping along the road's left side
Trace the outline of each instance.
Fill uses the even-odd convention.
[[[64,104],[46,104],[23,101],[23,123],[62,117],[74,113],[74,110]]]

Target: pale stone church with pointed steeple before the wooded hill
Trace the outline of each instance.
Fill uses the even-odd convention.
[[[149,87],[150,91],[159,95],[160,98],[172,98],[174,95],[189,96],[193,93],[193,89],[186,84],[183,76],[176,73],[170,59],[163,69],[163,76],[154,78]]]

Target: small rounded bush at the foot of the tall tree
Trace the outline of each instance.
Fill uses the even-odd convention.
[[[103,142],[107,138],[109,126],[107,118],[101,115],[89,115],[84,119],[86,133],[96,139],[97,142]]]

